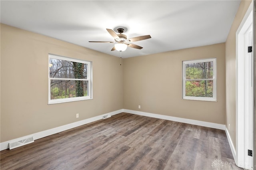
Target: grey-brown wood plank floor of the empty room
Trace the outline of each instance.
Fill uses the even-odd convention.
[[[120,113],[0,152],[1,170],[240,169],[224,130]]]

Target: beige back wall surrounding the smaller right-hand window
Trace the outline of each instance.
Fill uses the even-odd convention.
[[[182,99],[182,61],[211,57],[218,102]],[[225,124],[225,93],[225,43],[124,59],[124,109]]]

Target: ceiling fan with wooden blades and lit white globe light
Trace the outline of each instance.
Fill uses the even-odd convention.
[[[141,40],[146,40],[148,38],[151,38],[150,35],[147,36],[138,36],[134,38],[129,38],[127,39],[126,35],[122,34],[124,33],[124,28],[118,28],[117,31],[119,34],[116,34],[113,30],[111,29],[106,29],[108,33],[114,38],[115,41],[113,42],[100,42],[100,43],[115,43],[114,47],[111,49],[111,51],[117,50],[117,51],[125,51],[127,47],[132,47],[136,49],[142,49],[143,47],[130,43],[130,42],[137,42]],[[94,41],[89,41],[89,42],[94,42]]]

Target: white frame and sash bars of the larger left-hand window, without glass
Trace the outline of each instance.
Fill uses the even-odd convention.
[[[50,77],[50,69],[48,68],[48,104],[56,104],[56,103],[66,103],[72,101],[81,101],[92,99],[92,62],[84,61],[80,59],[74,59],[69,57],[63,57],[59,55],[49,54],[48,55],[48,63],[50,63],[50,58],[52,59],[61,59],[66,61],[73,61],[77,63],[85,63],[87,64],[87,79],[67,79],[67,78],[51,78]],[[49,67],[49,66],[48,66]],[[70,97],[65,99],[51,99],[51,80],[80,80],[80,81],[88,81],[88,96],[82,97]]]

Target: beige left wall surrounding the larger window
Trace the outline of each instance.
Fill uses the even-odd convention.
[[[1,142],[123,109],[118,57],[4,24],[0,36]],[[48,53],[92,61],[92,100],[48,105]]]

